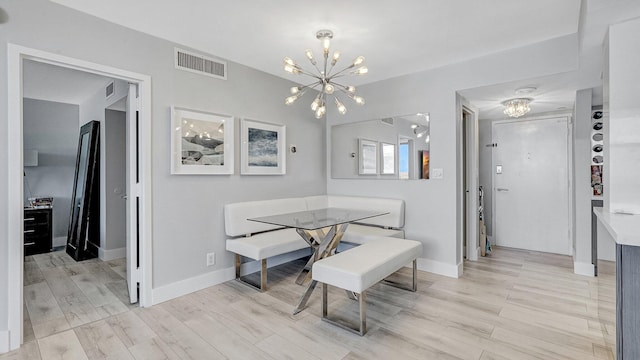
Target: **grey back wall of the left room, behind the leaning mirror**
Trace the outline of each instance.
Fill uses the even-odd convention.
[[[78,141],[78,105],[24,99],[25,149],[38,150],[38,166],[25,167],[32,195],[53,196],[53,246],[64,246],[69,228],[71,193]]]

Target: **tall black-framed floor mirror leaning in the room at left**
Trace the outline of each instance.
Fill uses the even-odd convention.
[[[76,261],[95,258],[100,247],[100,123],[80,128],[66,251]]]

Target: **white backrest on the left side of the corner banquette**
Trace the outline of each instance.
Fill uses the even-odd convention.
[[[224,206],[224,230],[227,236],[242,236],[281,229],[282,226],[247,219],[307,210],[304,198],[246,201]]]

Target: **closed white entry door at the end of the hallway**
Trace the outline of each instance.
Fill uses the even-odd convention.
[[[496,245],[570,254],[567,118],[493,124]]]

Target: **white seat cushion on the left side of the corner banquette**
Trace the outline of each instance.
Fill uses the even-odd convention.
[[[227,250],[254,260],[309,248],[295,229],[281,229],[250,237],[227,239]]]

